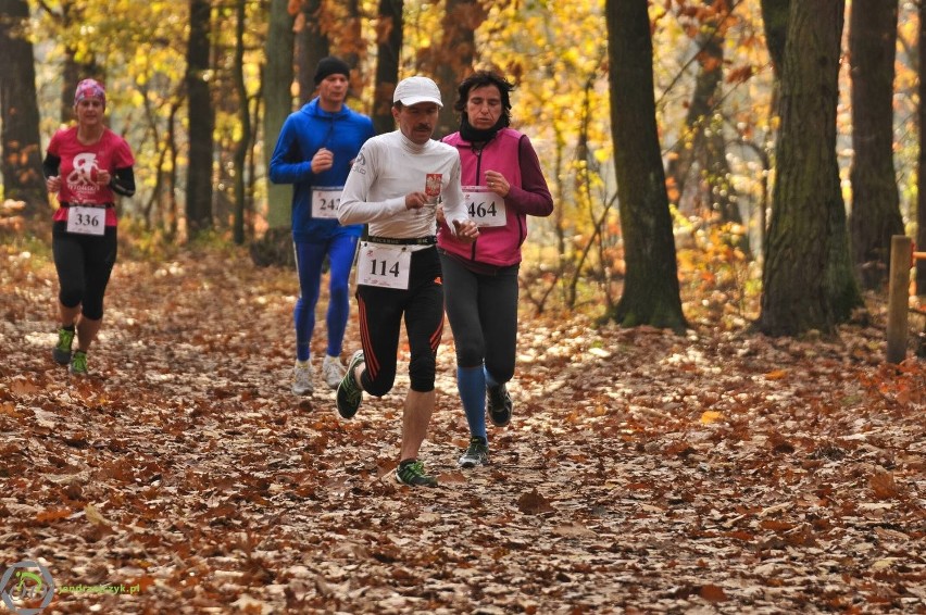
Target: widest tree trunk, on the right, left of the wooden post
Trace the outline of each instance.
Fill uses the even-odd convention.
[[[760,329],[834,332],[862,306],[836,160],[844,0],[794,2],[781,73],[781,129]]]

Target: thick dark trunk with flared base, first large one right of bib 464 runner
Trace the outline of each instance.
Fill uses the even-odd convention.
[[[606,0],[611,134],[626,254],[624,292],[608,314],[623,326],[677,331],[675,239],[660,156],[647,0]]]

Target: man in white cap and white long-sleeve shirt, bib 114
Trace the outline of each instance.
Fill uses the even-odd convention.
[[[460,186],[460,155],[433,140],[440,90],[427,77],[396,86],[392,116],[399,129],[361,148],[341,193],[341,224],[367,223],[370,237],[356,263],[356,303],[362,350],[350,360],[338,386],[338,413],[356,414],[363,391],[381,397],[396,380],[402,318],[409,338],[411,386],[402,416],[402,444],[396,478],[434,487],[418,450],[435,403],[435,365],[443,331],[443,288],[435,248],[438,202],[458,238],[475,241],[479,231],[467,215]]]

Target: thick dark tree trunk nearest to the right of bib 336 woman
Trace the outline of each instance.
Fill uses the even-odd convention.
[[[187,105],[189,110],[189,166],[187,167],[187,228],[196,237],[212,228],[213,130],[215,111],[209,86],[209,0],[190,0],[190,38],[187,47]]]

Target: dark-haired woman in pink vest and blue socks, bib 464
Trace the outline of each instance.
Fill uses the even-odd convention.
[[[487,404],[496,426],[511,421],[505,384],[514,376],[521,244],[527,216],[553,212],[537,152],[526,135],[509,127],[512,89],[491,72],[466,77],[454,104],[460,130],[442,139],[460,152],[466,206],[479,225],[475,242],[460,241],[443,224],[437,239],[456,347],[456,386],[470,426],[462,467],[488,463]]]

